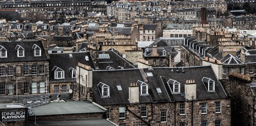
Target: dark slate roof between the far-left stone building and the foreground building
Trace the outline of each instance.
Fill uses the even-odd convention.
[[[69,54],[72,54],[72,57],[70,57]],[[78,64],[78,62],[91,66],[91,68],[95,70],[95,66],[89,52],[52,53],[49,54],[49,56],[50,81],[75,81],[76,78],[72,78],[70,74],[70,68],[72,67],[76,69],[76,65]],[[85,60],[85,56],[88,56],[89,61]],[[54,73],[52,72],[52,70],[55,66],[64,70],[64,79],[54,79]]]

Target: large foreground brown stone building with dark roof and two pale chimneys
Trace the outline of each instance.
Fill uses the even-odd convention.
[[[119,126],[230,125],[230,100],[210,66],[142,65],[148,68],[93,71],[79,63],[85,74],[77,78],[74,97],[105,107]]]

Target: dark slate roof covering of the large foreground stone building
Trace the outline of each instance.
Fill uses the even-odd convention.
[[[176,70],[179,70],[177,72]],[[184,72],[182,72],[182,69]],[[173,70],[173,71],[171,71]],[[186,101],[184,96],[179,94],[172,94],[171,89],[168,87],[168,80],[176,80],[180,83],[181,93],[184,93],[184,84],[186,80],[194,79],[196,83],[196,100],[210,100],[210,99],[225,99],[228,98],[218,78],[214,74],[211,66],[199,67],[160,67],[153,68],[153,70],[145,69],[128,69],[128,70],[100,70],[92,71],[92,91],[94,94],[94,102],[100,105],[111,104],[130,104],[128,101],[129,92],[128,87],[130,83],[137,82],[138,80],[144,81],[142,73],[152,72],[153,76],[147,76],[148,93],[149,96],[139,96],[139,103],[148,102],[173,102]],[[215,91],[208,92],[202,79],[211,78],[215,81]],[[98,84],[104,83],[110,87],[110,97],[101,98]],[[116,85],[121,85],[122,91],[118,91]],[[157,93],[160,88],[162,93]]]

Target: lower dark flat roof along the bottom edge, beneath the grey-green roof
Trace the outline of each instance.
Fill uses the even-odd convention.
[[[34,126],[34,120],[29,121],[28,126]],[[117,126],[103,118],[72,118],[72,119],[48,119],[36,120],[38,126]]]

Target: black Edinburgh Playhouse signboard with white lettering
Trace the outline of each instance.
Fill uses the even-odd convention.
[[[26,111],[2,111],[1,122],[26,121]]]

